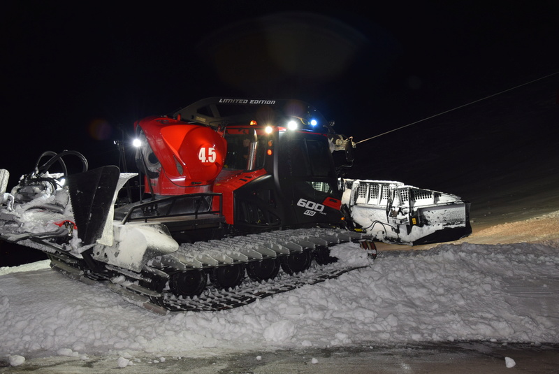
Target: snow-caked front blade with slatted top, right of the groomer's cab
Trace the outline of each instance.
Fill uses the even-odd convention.
[[[385,243],[420,245],[472,233],[470,203],[460,196],[388,180],[343,180],[351,219]]]

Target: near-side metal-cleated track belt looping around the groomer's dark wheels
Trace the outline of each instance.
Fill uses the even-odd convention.
[[[279,266],[279,261],[285,263],[291,254],[328,250],[333,245],[364,238],[366,236],[361,233],[341,229],[296,229],[184,244],[176,253],[149,261],[149,266],[145,267],[149,270],[141,274],[110,266],[110,270],[119,273],[119,279],[113,278],[113,283],[109,286],[133,303],[162,315],[168,311],[218,311],[238,308],[258,299],[337,278],[348,271],[368,266],[372,261],[366,257],[374,257],[376,250],[361,250],[365,253],[365,258],[361,258],[356,264],[344,264],[343,261],[320,264],[321,261],[324,262],[322,258],[318,261],[319,264],[314,264],[302,272],[284,272],[267,281],[246,278],[236,287],[210,285],[202,294],[194,297],[177,294],[169,288],[168,280],[173,274],[183,271],[207,273],[220,266],[245,266],[251,261],[277,259]],[[243,273],[244,271],[242,268]],[[79,279],[84,280],[81,277]],[[147,282],[143,281],[144,279]],[[161,289],[164,283],[166,286]]]

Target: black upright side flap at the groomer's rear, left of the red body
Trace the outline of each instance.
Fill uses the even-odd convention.
[[[103,234],[112,198],[120,175],[117,166],[103,166],[85,173],[68,175],[78,238],[85,245],[94,244]]]

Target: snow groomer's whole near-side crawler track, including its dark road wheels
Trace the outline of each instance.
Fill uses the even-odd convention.
[[[64,253],[50,253],[55,270],[87,284],[104,281],[108,287],[132,303],[166,315],[169,311],[219,311],[238,308],[256,300],[282,292],[337,278],[343,273],[372,264],[376,249],[358,250],[354,262],[337,261],[329,257],[330,247],[340,243],[368,240],[368,236],[342,229],[294,229],[235,236],[210,242],[183,244],[177,252],[154,257],[147,261],[143,271],[134,272],[109,264],[87,266],[87,259],[77,259]],[[351,252],[351,251],[350,251]],[[339,257],[347,256],[339,253]],[[294,260],[290,260],[291,258]],[[311,264],[312,259],[316,263]],[[288,264],[298,266],[300,259],[307,265],[296,271]],[[355,259],[355,257],[354,257]],[[261,261],[274,261],[278,274],[270,278],[245,277],[245,267]],[[289,261],[295,261],[289,263]],[[307,262],[308,261],[308,262]],[[226,287],[215,280],[215,271],[236,266],[242,272],[238,281]],[[248,272],[247,272],[248,273]],[[213,280],[212,280],[212,274]],[[181,285],[173,284],[180,276]],[[208,287],[206,282],[212,280]],[[244,280],[243,280],[244,279]],[[228,280],[230,281],[230,280]],[[188,296],[183,289],[198,290]],[[202,290],[203,288],[203,290]]]

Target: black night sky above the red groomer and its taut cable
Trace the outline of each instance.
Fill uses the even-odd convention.
[[[303,99],[361,140],[559,70],[556,1],[115,3],[3,3],[12,178],[44,150],[116,164],[135,120],[207,96]]]

